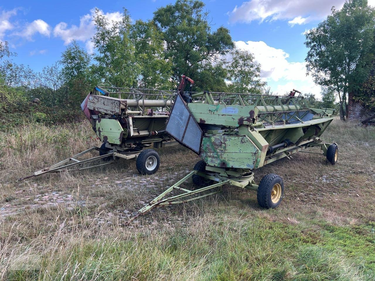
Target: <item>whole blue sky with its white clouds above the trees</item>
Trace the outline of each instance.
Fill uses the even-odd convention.
[[[371,0],[371,2],[375,0]],[[132,19],[150,19],[154,10],[172,1],[1,1],[0,40],[17,52],[16,63],[40,71],[60,59],[75,39],[92,51],[92,13],[98,7],[117,19],[122,7]],[[213,29],[229,28],[236,46],[251,51],[261,63],[262,78],[274,94],[296,88],[319,96],[320,87],[306,76],[304,32],[326,18],[344,0],[205,0]]]

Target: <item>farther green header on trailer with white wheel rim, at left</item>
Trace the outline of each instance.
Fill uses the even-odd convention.
[[[136,161],[139,173],[159,169],[159,154],[151,149],[178,145],[165,131],[175,91],[95,87],[81,104],[101,147],[92,147],[20,180],[45,173],[79,171],[113,164],[118,158]],[[99,156],[87,158],[89,153]],[[102,160],[101,163],[96,163]]]

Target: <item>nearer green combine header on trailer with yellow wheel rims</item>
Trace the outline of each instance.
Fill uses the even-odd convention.
[[[320,148],[318,154],[336,164],[338,145],[320,139],[335,110],[311,108],[296,93],[300,94],[297,90],[288,96],[180,91],[165,130],[201,160],[135,217],[155,207],[219,193],[225,184],[255,190],[261,207],[276,208],[284,195],[283,179],[271,173],[257,184],[254,170],[309,147]],[[190,178],[196,188],[181,187]],[[179,194],[171,196],[172,192]]]

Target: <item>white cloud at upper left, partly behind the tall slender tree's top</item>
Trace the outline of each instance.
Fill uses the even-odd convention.
[[[99,10],[99,13],[108,18],[110,24],[112,21],[120,21],[122,19],[120,12],[104,13],[102,10]],[[73,40],[84,42],[87,50],[93,52],[93,44],[90,42],[90,39],[95,34],[94,15],[95,9],[92,9],[89,14],[81,16],[79,26],[73,24],[68,27],[66,22],[60,22],[55,26],[53,34],[55,37],[61,37],[66,45]]]

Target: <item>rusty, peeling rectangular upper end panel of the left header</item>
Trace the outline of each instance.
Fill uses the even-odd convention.
[[[126,110],[126,100],[114,97],[89,95],[87,108],[108,114],[121,114],[121,109]]]

